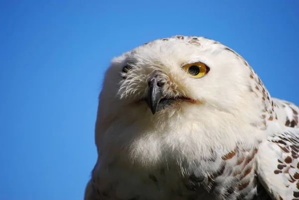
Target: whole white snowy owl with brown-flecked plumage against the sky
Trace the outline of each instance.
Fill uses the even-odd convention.
[[[299,200],[299,107],[204,37],[112,60],[85,200]]]

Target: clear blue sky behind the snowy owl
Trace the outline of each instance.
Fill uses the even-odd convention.
[[[0,200],[82,200],[110,60],[147,41],[205,36],[299,105],[298,0],[0,2]]]

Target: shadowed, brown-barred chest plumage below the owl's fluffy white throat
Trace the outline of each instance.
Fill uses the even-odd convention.
[[[94,180],[94,188],[100,200],[259,200],[257,152],[236,148],[198,162],[162,163],[154,170],[111,164]]]

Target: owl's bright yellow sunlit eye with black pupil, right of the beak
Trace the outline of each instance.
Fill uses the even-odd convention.
[[[209,67],[201,62],[195,62],[184,65],[183,70],[185,70],[190,77],[200,78],[208,73]]]

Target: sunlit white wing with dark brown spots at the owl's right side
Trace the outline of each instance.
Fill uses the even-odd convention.
[[[274,99],[278,120],[261,143],[257,176],[273,200],[299,200],[299,107]]]

